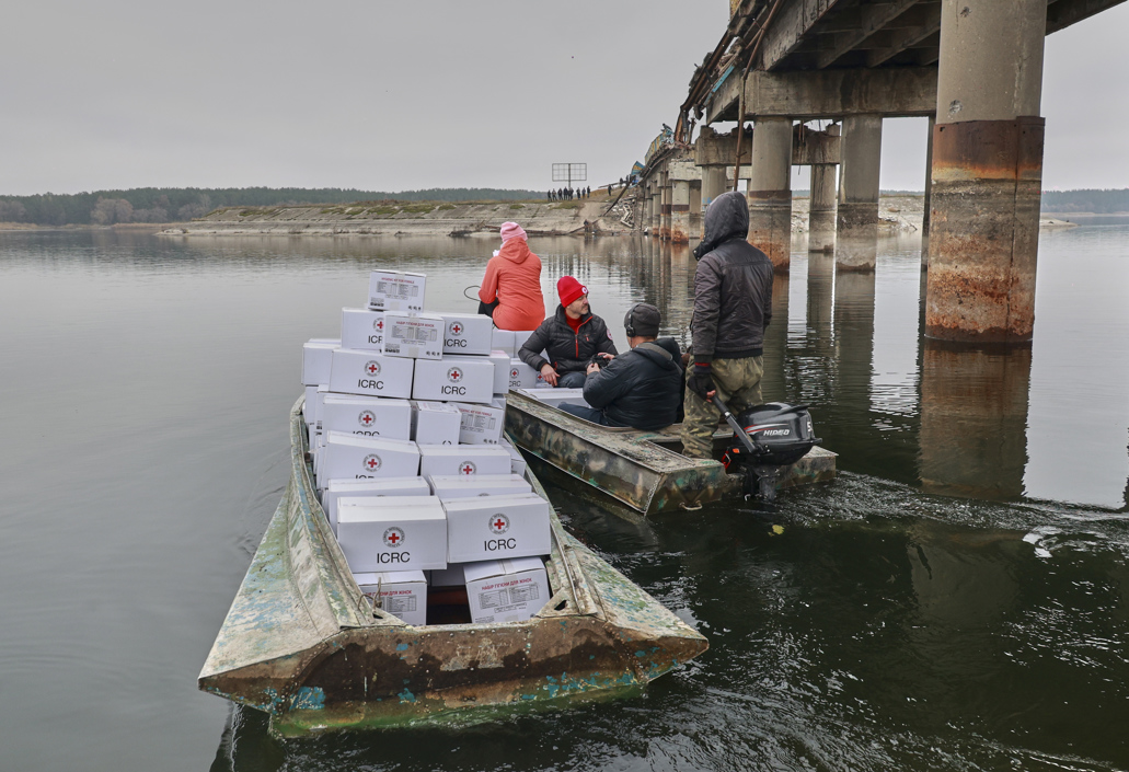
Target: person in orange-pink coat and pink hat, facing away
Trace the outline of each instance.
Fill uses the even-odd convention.
[[[497,302],[491,316],[499,330],[534,330],[545,318],[541,258],[530,252],[516,222],[501,226],[501,249],[487,263],[479,300],[487,307]]]

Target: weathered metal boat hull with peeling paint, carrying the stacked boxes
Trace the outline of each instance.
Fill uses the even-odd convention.
[[[272,731],[290,736],[464,720],[631,690],[708,648],[555,515],[552,597],[533,619],[412,626],[374,608],[315,495],[301,405],[290,413],[290,482],[200,673],[201,690],[268,712]]]

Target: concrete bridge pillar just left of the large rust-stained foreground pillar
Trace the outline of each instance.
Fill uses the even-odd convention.
[[[835,266],[840,271],[874,271],[878,252],[881,163],[882,116],[844,117],[835,213]]]

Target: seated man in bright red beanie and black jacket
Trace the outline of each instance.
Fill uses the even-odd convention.
[[[597,354],[614,357],[615,343],[604,321],[592,313],[587,287],[574,277],[561,277],[557,295],[561,299],[557,313],[533,331],[517,356],[550,386],[579,388],[587,378],[588,360]]]

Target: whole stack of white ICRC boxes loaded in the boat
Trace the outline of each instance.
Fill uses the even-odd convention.
[[[375,607],[427,624],[429,586],[454,586],[469,621],[528,619],[550,595],[550,506],[502,428],[509,388],[537,385],[515,359],[530,333],[426,313],[426,284],[373,271],[341,339],[304,345],[314,484]]]

